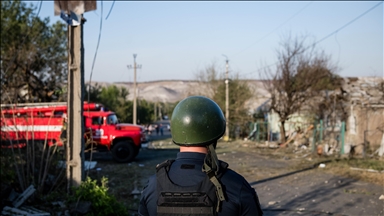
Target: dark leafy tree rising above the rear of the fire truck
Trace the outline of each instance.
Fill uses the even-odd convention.
[[[50,26],[49,18],[36,15],[25,2],[1,1],[2,103],[65,98],[57,90],[67,78],[66,25]]]

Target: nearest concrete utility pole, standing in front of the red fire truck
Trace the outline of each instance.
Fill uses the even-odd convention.
[[[54,1],[54,13],[68,24],[67,192],[84,180],[84,43],[83,13],[96,10],[96,1]]]

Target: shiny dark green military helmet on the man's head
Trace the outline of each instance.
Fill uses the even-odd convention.
[[[172,113],[172,140],[181,146],[206,146],[225,132],[225,117],[220,107],[203,96],[180,101]]]

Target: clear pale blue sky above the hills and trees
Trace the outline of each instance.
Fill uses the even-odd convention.
[[[38,16],[64,22],[54,16],[53,1],[32,3],[41,2]],[[265,68],[275,70],[277,52],[289,34],[306,35],[308,44],[316,43],[340,76],[384,77],[383,5],[381,1],[97,1],[96,10],[83,14],[85,81],[133,82],[134,54],[141,66],[137,82],[195,80],[199,71],[213,64],[225,74],[226,60],[230,76],[259,79]]]

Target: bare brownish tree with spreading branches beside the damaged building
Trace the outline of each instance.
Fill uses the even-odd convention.
[[[306,37],[283,40],[278,50],[276,71],[266,68],[265,88],[271,95],[270,109],[280,117],[280,137],[285,142],[285,122],[308,105],[321,90],[334,88],[335,67],[330,57],[318,52],[315,45],[306,45]]]

